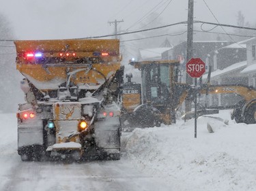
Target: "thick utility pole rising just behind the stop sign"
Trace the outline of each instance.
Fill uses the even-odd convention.
[[[186,63],[193,58],[193,22],[194,22],[194,0],[188,0],[188,31],[186,41]],[[192,77],[186,73],[186,84],[193,84]],[[185,111],[191,111],[190,101],[185,102]]]

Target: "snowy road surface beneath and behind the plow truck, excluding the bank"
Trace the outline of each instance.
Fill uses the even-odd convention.
[[[0,114],[0,190],[171,190],[162,180],[141,173],[126,157],[81,164],[22,162],[16,152],[15,114]]]

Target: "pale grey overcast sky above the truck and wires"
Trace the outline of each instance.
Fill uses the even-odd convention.
[[[141,27],[141,18],[163,10],[159,17],[164,24],[187,20],[188,0],[170,1],[0,0],[0,12],[10,20],[16,39],[62,39],[113,33],[114,26],[108,22],[115,19],[124,19],[119,23],[122,30],[136,30]],[[223,24],[236,24],[238,11],[246,21],[256,23],[255,0],[204,1]],[[204,1],[195,2],[195,20],[216,22]]]

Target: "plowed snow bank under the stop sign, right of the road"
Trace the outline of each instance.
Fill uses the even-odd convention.
[[[197,120],[197,139],[194,119],[136,128],[125,135],[124,152],[139,169],[165,179],[173,190],[255,190],[255,124],[236,124],[227,111],[212,116]],[[208,132],[208,122],[214,133]]]

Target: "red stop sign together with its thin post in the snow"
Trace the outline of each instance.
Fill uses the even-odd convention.
[[[186,63],[186,73],[195,78],[195,86],[197,86],[197,77],[205,73],[205,63],[201,58],[191,58]],[[197,138],[197,94],[195,94],[195,138]]]

